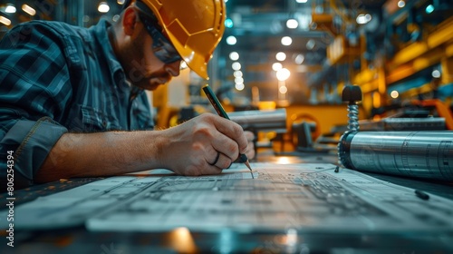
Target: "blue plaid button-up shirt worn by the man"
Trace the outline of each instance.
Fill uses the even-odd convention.
[[[33,21],[0,41],[2,181],[7,151],[14,151],[14,185],[31,184],[65,132],[153,128],[146,93],[126,81],[113,54],[110,25]]]

